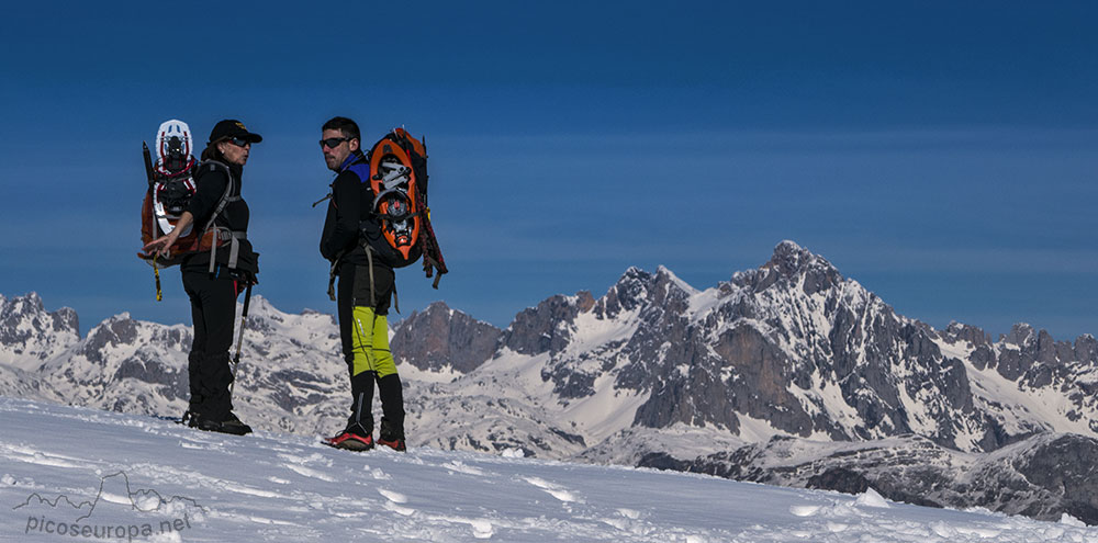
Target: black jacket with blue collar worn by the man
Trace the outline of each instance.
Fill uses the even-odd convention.
[[[370,165],[366,156],[361,151],[355,151],[347,157],[339,174],[332,182],[332,200],[328,202],[328,213],[321,233],[321,256],[328,261],[339,259],[341,262],[360,265],[369,263],[360,241],[360,229],[380,231],[377,217],[370,213],[373,191],[366,179],[369,171]],[[373,264],[389,267],[377,258],[373,259]]]

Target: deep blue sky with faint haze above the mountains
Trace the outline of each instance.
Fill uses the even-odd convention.
[[[1098,7],[1089,2],[42,2],[0,20],[0,293],[83,331],[189,323],[134,252],[167,118],[265,136],[257,293],[334,312],[316,140],[426,134],[452,272],[399,278],[506,326],[629,265],[696,287],[793,239],[941,328],[1098,332]]]

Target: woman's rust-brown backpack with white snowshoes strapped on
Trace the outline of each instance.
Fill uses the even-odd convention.
[[[148,178],[148,191],[145,193],[141,211],[143,245],[148,245],[149,241],[170,234],[183,212],[187,211],[187,205],[197,190],[194,172],[198,170],[198,162],[194,160],[192,149],[190,127],[187,126],[187,123],[175,118],[165,121],[156,133],[157,159],[155,163],[152,160],[148,145],[142,143],[145,174]],[[213,163],[220,165],[219,162]],[[224,165],[220,166],[224,167]],[[227,167],[225,168],[227,169]],[[231,174],[229,179],[226,192],[222,196],[223,202],[219,203],[217,212],[224,207],[224,201],[232,192]],[[216,216],[216,213],[214,215]],[[224,245],[223,237],[215,229],[210,228],[210,225],[199,230],[191,223],[169,248],[171,251],[169,257],[164,258],[142,252],[138,252],[137,256],[156,268],[169,268],[182,262],[183,257],[188,254],[211,250],[215,239],[217,240],[216,245]]]

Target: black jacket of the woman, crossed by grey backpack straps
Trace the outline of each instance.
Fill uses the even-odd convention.
[[[233,186],[233,192],[229,195],[239,196],[244,168],[238,165],[232,165],[229,166],[229,171],[236,180],[235,186]],[[194,215],[194,228],[201,230],[205,227],[206,223],[210,222],[210,217],[217,207],[217,202],[221,201],[222,194],[225,193],[225,186],[228,183],[228,176],[225,174],[225,170],[222,168],[215,168],[210,163],[202,163],[199,165],[198,171],[194,173],[194,183],[195,192],[194,195],[191,196],[187,211],[189,211],[191,215]],[[225,205],[225,208],[217,215],[214,224],[234,231],[247,231],[249,218],[250,211],[248,210],[248,203],[242,199],[235,202],[229,202]],[[259,273],[259,253],[253,249],[250,241],[244,239],[240,240],[239,244],[240,249],[239,256],[237,257],[237,269],[253,274]],[[227,245],[219,247],[217,263],[227,265],[228,254],[229,248]],[[209,271],[210,252],[197,252],[187,257],[180,264],[180,268],[183,271]]]

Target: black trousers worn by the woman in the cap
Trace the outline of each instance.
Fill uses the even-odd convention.
[[[236,320],[236,284],[232,279],[211,278],[205,270],[183,270],[182,275],[194,321],[194,341],[187,357],[191,380],[188,410],[202,418],[226,420],[233,410],[228,351]]]

